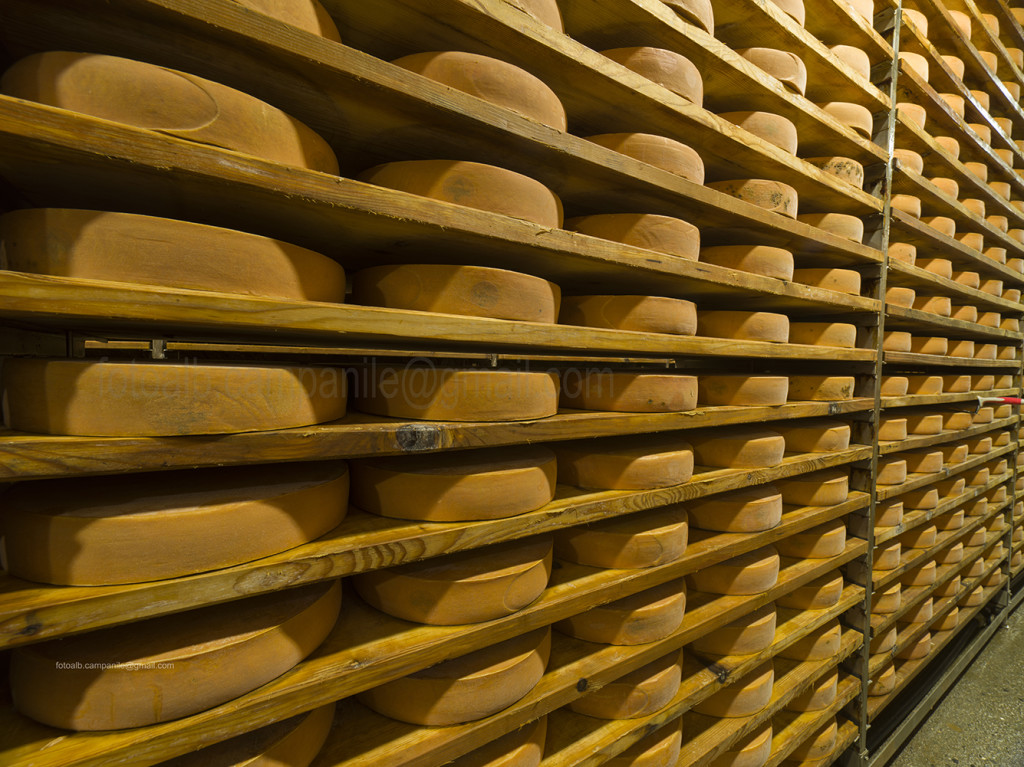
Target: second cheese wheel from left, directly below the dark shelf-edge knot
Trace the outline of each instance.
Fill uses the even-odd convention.
[[[422,521],[504,519],[555,496],[555,454],[541,445],[351,462],[352,504]]]

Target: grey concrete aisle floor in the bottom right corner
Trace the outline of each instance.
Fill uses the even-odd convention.
[[[1024,767],[1024,608],[888,767]]]

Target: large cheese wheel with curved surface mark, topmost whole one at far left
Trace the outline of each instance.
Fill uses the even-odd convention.
[[[303,123],[185,72],[119,56],[50,51],[10,67],[0,91],[274,163],[338,173],[330,145]]]

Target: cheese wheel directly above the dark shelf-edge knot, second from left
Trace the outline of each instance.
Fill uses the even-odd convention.
[[[364,413],[417,421],[529,421],[558,411],[558,376],[520,371],[372,366],[358,374]]]

